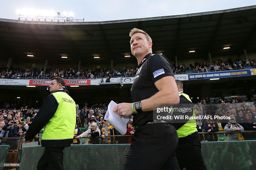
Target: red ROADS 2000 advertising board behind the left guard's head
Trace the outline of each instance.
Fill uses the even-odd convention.
[[[66,86],[91,85],[91,80],[64,80]],[[49,86],[51,80],[29,80],[30,86]]]

